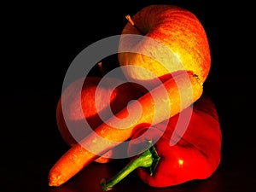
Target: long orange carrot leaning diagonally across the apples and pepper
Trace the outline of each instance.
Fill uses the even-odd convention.
[[[50,169],[49,186],[66,183],[84,166],[131,138],[137,125],[154,125],[174,116],[199,99],[202,92],[201,81],[193,74],[181,73],[166,80],[67,150]]]

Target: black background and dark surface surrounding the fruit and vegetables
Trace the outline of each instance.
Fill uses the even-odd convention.
[[[244,22],[253,12],[248,10],[251,6],[246,2],[223,5],[216,1],[3,6],[7,11],[2,17],[6,44],[3,44],[1,71],[0,191],[101,191],[100,179],[113,176],[125,166],[126,160],[108,165],[92,163],[59,188],[50,188],[47,183],[49,169],[67,150],[55,121],[56,103],[67,68],[88,45],[119,34],[126,22],[124,15],[133,15],[151,3],[181,5],[194,12],[205,26],[212,68],[204,87],[219,113],[222,160],[217,172],[204,181],[154,189],[132,173],[112,191],[255,191],[255,85],[251,68],[254,62],[250,60],[253,31],[252,24],[247,25],[250,21]],[[247,43],[252,47],[247,47]]]

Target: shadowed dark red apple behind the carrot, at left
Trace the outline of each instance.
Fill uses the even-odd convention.
[[[83,83],[82,92],[79,94],[78,84]],[[101,117],[110,118],[112,115],[106,108],[110,105],[112,113],[118,113],[122,108],[125,108],[128,102],[136,100],[142,96],[142,91],[134,88],[131,82],[120,84],[113,91],[114,82],[122,82],[119,79],[104,78],[100,87],[98,87],[101,78],[99,77],[87,77],[86,79],[78,79],[72,84],[69,84],[67,88],[62,92],[56,108],[56,123],[58,130],[61,133],[61,137],[64,139],[68,146],[72,147],[78,143],[73,138],[67,125],[72,125],[71,129],[76,136],[79,136],[79,141],[86,137],[90,129],[95,130],[96,127],[103,123]],[[122,82],[124,83],[124,82]],[[99,93],[95,100],[96,89]],[[80,88],[81,90],[81,88]],[[111,94],[111,95],[109,95]],[[79,97],[81,96],[81,97]],[[110,101],[108,97],[110,96]],[[96,109],[95,101],[99,102],[99,108]],[[62,107],[65,105],[65,113],[63,113]],[[80,107],[81,106],[81,107]],[[80,110],[82,108],[82,111]],[[101,114],[101,117],[99,115]],[[65,114],[65,118],[64,115]],[[87,120],[90,125],[90,129],[84,129],[84,119]],[[111,154],[109,151],[103,156],[98,158],[96,162],[105,163],[110,161]]]

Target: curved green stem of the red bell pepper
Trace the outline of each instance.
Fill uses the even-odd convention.
[[[124,177],[129,175],[138,167],[147,167],[150,175],[154,173],[154,169],[158,164],[160,157],[156,153],[154,147],[148,148],[143,154],[138,155],[135,159],[131,160],[120,172],[114,177],[107,180],[102,178],[100,186],[104,191],[108,191],[113,188],[116,183],[119,183]]]

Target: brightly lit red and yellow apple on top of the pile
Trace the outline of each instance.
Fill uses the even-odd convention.
[[[137,65],[154,73],[152,76],[137,68],[125,68],[123,71],[127,79],[136,81],[138,84],[147,81],[154,87],[159,84],[155,81],[156,78],[165,81],[175,73],[185,70],[194,73],[201,84],[205,82],[211,67],[210,48],[204,27],[194,14],[174,5],[153,4],[140,9],[131,17],[131,20],[136,27],[128,22],[122,34],[153,38],[169,49],[163,49],[148,41],[147,38],[132,41],[131,38],[121,36],[119,49],[135,48],[145,51],[150,56],[134,52],[119,52],[119,65]],[[160,62],[153,58],[160,59]]]

